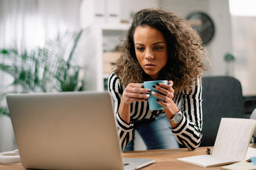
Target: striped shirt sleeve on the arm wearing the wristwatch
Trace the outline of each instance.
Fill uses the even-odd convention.
[[[190,91],[182,92],[183,119],[181,123],[172,128],[172,132],[181,145],[189,150],[196,149],[202,139],[203,111],[202,111],[202,84],[201,79],[197,80]]]

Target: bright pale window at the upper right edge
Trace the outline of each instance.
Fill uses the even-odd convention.
[[[240,80],[244,96],[256,95],[256,1],[230,0],[233,41],[233,76]]]

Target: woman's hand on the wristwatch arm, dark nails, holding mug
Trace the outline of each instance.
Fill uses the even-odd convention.
[[[156,100],[161,106],[164,106],[164,112],[166,113],[167,118],[173,118],[176,113],[178,113],[178,107],[173,101],[174,98],[174,82],[169,81],[169,84],[156,84],[154,89],[156,91],[161,92],[162,94],[151,92],[156,98],[160,98],[161,100]]]

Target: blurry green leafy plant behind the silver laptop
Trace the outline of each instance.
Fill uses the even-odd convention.
[[[14,79],[9,84],[12,90],[0,94],[0,101],[10,93],[84,90],[84,68],[76,52],[82,32],[58,35],[31,50],[18,50],[15,45],[0,49],[0,70]],[[0,106],[0,114],[9,115],[6,103]]]

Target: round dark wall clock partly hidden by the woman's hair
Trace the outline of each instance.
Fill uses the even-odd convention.
[[[186,17],[186,20],[201,36],[203,45],[207,45],[213,39],[215,26],[213,20],[210,18],[210,16],[208,16],[208,14],[203,12],[190,13]]]

